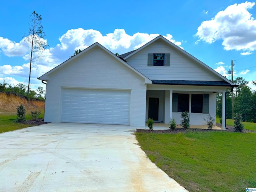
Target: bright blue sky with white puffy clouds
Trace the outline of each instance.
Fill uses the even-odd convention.
[[[35,10],[49,45],[32,68],[37,77],[67,60],[77,48],[99,42],[123,54],[158,35],[166,37],[230,79],[256,80],[256,5],[240,0],[0,0],[0,83],[28,84],[29,53],[24,35]],[[185,69],[184,69],[185,70]],[[253,90],[256,87],[248,84]]]

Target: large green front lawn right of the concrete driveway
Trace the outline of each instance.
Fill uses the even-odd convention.
[[[190,192],[256,188],[255,133],[142,132],[136,138],[155,164]]]

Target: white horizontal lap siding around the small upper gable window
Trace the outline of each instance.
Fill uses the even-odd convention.
[[[170,66],[148,66],[148,54],[170,53]],[[130,58],[127,63],[149,79],[157,80],[204,80],[222,81],[222,79],[207,68],[194,62],[175,48],[162,41],[156,41],[140,50]]]

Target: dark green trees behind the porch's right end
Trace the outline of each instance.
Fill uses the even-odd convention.
[[[241,114],[244,122],[256,122],[256,91],[247,86],[248,81],[242,77],[237,77],[234,84],[234,114]],[[252,82],[256,85],[256,81]],[[228,92],[231,90],[227,90]],[[218,93],[216,97],[216,116],[221,118],[222,114],[222,94]],[[232,119],[232,94],[226,96],[226,118]]]

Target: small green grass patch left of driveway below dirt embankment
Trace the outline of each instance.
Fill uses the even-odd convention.
[[[35,126],[16,123],[16,118],[16,113],[0,113],[0,133]],[[44,118],[44,111],[40,114],[38,118]],[[26,120],[30,119],[32,119],[31,116],[29,114],[26,114]]]

